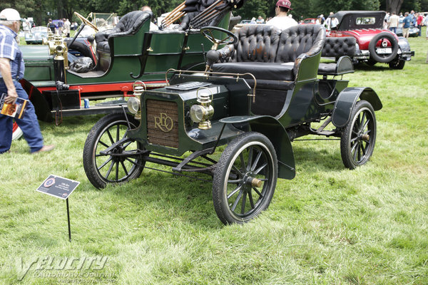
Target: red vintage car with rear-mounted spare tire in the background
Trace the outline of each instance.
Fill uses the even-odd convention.
[[[337,18],[339,25],[329,36],[356,38],[354,63],[388,63],[390,68],[402,69],[414,51],[410,51],[406,38],[383,29],[385,15],[384,11],[339,11],[330,16]]]

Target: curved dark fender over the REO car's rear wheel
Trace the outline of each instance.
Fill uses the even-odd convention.
[[[375,111],[382,109],[382,102],[379,96],[370,87],[348,87],[337,95],[335,108],[332,113],[332,123],[337,128],[343,128],[350,120],[352,108],[357,103],[358,98],[366,100]]]

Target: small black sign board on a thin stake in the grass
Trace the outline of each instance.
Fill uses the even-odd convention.
[[[78,181],[70,180],[56,175],[49,175],[46,180],[37,188],[37,191],[61,199],[67,199],[68,196],[80,184]]]

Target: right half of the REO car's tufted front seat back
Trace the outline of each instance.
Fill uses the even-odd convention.
[[[297,25],[282,30],[275,62],[293,62],[302,53],[311,56],[322,51],[325,29],[321,25]]]

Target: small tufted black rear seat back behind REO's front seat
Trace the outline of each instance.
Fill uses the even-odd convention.
[[[354,56],[356,39],[353,36],[325,38],[322,56]]]

